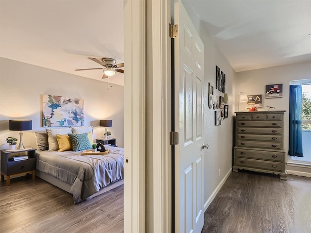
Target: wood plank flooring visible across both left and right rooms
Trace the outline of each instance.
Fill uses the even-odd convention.
[[[73,204],[71,194],[25,177],[0,184],[0,233],[122,233],[123,185]],[[232,172],[202,233],[311,233],[311,178]]]

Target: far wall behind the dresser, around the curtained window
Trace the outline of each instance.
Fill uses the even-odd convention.
[[[262,94],[262,106],[260,110],[268,110],[265,106],[274,106],[275,110],[286,110],[284,115],[284,149],[288,151],[289,137],[289,85],[293,80],[311,79],[311,62],[297,63],[286,66],[269,67],[250,71],[239,72],[235,79],[235,92],[242,91],[244,94]],[[269,84],[283,83],[283,97],[276,99],[265,99],[265,86]],[[240,111],[247,111],[246,105],[240,105]],[[236,109],[238,105],[236,103]],[[288,156],[286,156],[288,159]],[[288,170],[311,172],[311,168],[299,168],[286,166]]]

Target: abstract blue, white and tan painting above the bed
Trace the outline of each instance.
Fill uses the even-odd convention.
[[[43,127],[83,126],[84,99],[42,95]]]

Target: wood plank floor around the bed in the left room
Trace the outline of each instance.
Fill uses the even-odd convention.
[[[0,184],[1,233],[122,233],[123,185],[73,204],[72,195],[31,176]]]

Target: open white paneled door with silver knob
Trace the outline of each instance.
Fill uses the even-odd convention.
[[[204,225],[204,45],[181,2],[174,5],[175,232],[201,233]]]

